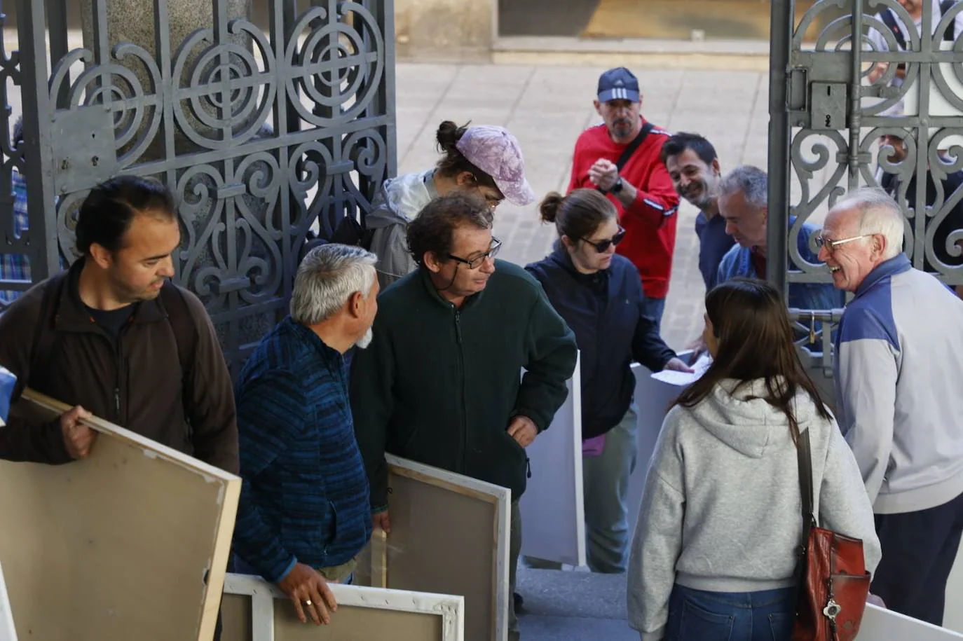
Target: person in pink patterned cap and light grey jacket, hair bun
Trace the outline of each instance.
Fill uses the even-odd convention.
[[[503,127],[461,127],[451,120],[435,135],[442,153],[437,165],[384,181],[365,216],[372,234],[369,249],[377,254],[377,280],[383,290],[417,266],[408,253],[408,223],[431,200],[450,193],[474,193],[494,211],[504,199],[528,205],[535,194],[525,179],[522,148]]]

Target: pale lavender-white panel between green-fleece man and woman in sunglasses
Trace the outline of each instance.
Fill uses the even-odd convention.
[[[526,451],[532,478],[519,501],[522,555],[586,565],[586,512],[582,487],[581,356],[568,397],[548,429]]]

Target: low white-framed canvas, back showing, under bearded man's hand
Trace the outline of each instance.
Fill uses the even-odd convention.
[[[301,624],[294,606],[276,586],[261,577],[228,574],[224,579],[224,641],[274,641],[285,638],[312,639],[399,639],[403,641],[463,641],[465,600],[463,597],[407,590],[329,583],[338,604],[331,623],[324,628]],[[249,608],[235,607],[232,596],[250,599]],[[375,617],[373,611],[413,613],[441,619],[434,638],[414,638],[410,617]],[[249,612],[249,620],[245,616]],[[425,618],[422,617],[422,618]],[[414,628],[414,629],[412,629]],[[435,628],[432,626],[431,628]]]

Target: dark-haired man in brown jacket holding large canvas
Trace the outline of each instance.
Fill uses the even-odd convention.
[[[0,458],[60,464],[90,453],[93,413],[238,474],[230,375],[200,300],[169,282],[180,244],[176,206],[160,183],[119,176],[95,187],[77,218],[73,266],[0,316],[0,366],[73,405],[33,424],[15,405]]]

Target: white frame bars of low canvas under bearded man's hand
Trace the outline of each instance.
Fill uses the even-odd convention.
[[[464,597],[335,583],[328,583],[328,587],[338,605],[440,616],[441,641],[464,641]],[[251,639],[274,641],[274,601],[282,600],[282,607],[291,607],[277,586],[261,577],[228,574],[224,578],[224,594],[250,597]]]

